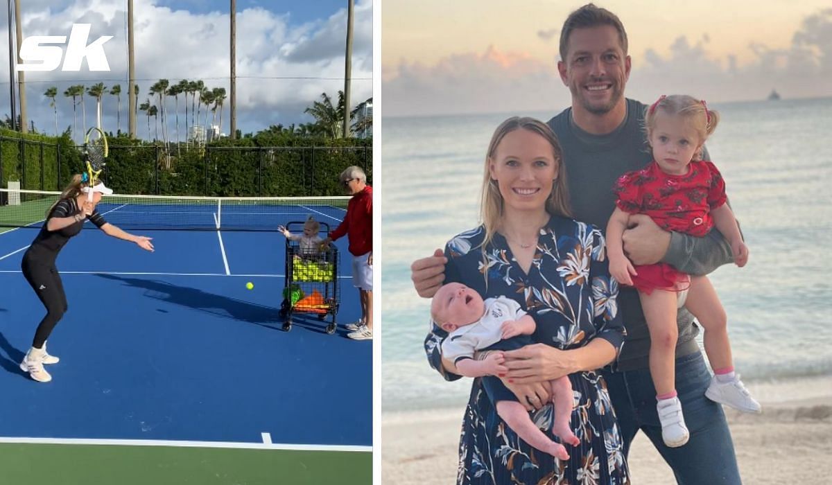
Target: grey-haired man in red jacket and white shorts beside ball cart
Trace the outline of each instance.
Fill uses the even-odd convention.
[[[361,319],[348,324],[353,330],[350,339],[373,338],[373,187],[367,185],[367,176],[358,166],[350,166],[341,172],[344,190],[353,198],[347,205],[347,214],[324,240],[329,244],[343,235],[349,238],[349,252],[353,255],[353,285],[359,289]]]

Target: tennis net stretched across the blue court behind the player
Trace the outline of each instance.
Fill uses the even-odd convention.
[[[3,196],[5,195],[5,196]],[[40,229],[60,192],[0,189],[0,227]],[[347,197],[196,197],[104,195],[97,210],[124,230],[277,230],[310,215],[330,227],[344,220]],[[89,224],[89,222],[87,222]]]

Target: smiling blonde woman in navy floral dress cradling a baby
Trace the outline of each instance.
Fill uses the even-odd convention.
[[[615,413],[595,372],[616,359],[624,339],[601,231],[570,217],[562,151],[541,121],[503,121],[484,172],[483,224],[445,246],[444,281],[483,298],[507,295],[532,315],[537,343],[503,352],[507,377],[473,381],[458,483],[579,483],[587,473],[596,483],[629,483]],[[445,379],[459,379],[442,355],[447,336],[433,324],[425,340],[428,361]],[[483,380],[508,388],[527,410],[539,409],[532,415],[537,428],[562,443],[552,433],[547,382],[565,375],[574,395],[570,426],[579,441],[560,460],[518,438],[499,418]]]

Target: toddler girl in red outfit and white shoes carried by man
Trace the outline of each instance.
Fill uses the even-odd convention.
[[[726,204],[725,181],[702,146],[716,129],[719,113],[693,97],[662,96],[647,109],[645,125],[653,161],[624,174],[615,187],[617,208],[607,224],[610,273],[638,290],[650,330],[650,373],[656,386],[656,409],[667,446],[689,438],[676,397],[676,311],[685,306],[705,328],[705,352],[716,374],[706,396],[740,411],[759,413],[740,376],[734,373],[726,313],[707,276],[681,273],[671,265],[634,266],[623,251],[622,235],[631,214],[650,215],[664,230],[704,236],[713,227],[729,241],[734,262],[744,266],[748,248]]]

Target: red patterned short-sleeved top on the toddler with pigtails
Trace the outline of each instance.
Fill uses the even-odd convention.
[[[664,230],[701,237],[714,225],[711,210],[726,203],[726,186],[710,161],[691,161],[683,176],[666,174],[656,161],[621,176],[613,189],[616,205],[646,214]]]

